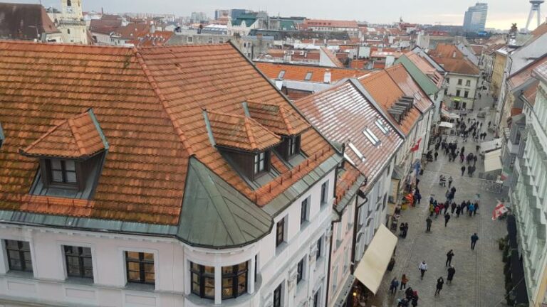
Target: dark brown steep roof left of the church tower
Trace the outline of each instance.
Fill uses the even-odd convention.
[[[40,4],[0,3],[0,38],[33,41],[42,33],[59,33]]]

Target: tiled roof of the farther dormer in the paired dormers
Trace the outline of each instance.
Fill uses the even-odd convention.
[[[286,107],[246,102],[246,108],[252,119],[278,135],[296,136],[311,128],[310,124]]]

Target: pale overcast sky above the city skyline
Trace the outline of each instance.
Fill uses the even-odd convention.
[[[6,1],[6,0],[0,0]],[[39,0],[7,0],[8,2],[38,3]],[[528,0],[490,0],[487,28],[508,29],[516,22],[526,26],[530,11]],[[58,6],[60,0],[42,0],[44,6]],[[474,5],[472,0],[83,0],[85,11],[150,12],[189,16],[203,11],[214,17],[214,9],[267,10],[270,16],[306,16],[309,18],[348,19],[371,23],[391,23],[399,17],[412,23],[462,25],[464,12]],[[547,11],[547,4],[543,12]],[[542,14],[542,21],[546,15]]]

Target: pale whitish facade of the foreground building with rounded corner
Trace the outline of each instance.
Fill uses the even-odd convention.
[[[2,298],[39,301],[53,306],[77,303],[79,306],[211,306],[214,301],[199,298],[190,291],[190,262],[215,266],[216,303],[229,306],[269,306],[273,290],[284,282],[283,306],[300,306],[321,291],[325,302],[328,229],[333,203],[334,170],[283,210],[275,222],[286,218],[286,243],[276,248],[276,227],[263,239],[236,249],[190,247],[176,239],[83,232],[47,227],[27,227],[0,223],[0,303]],[[330,200],[321,202],[321,184],[328,180]],[[300,227],[301,200],[311,198],[309,222]],[[207,231],[207,229],[204,229]],[[317,240],[323,238],[322,257],[316,262]],[[9,271],[4,239],[30,243],[33,274]],[[90,247],[93,281],[66,279],[62,245]],[[154,254],[155,286],[126,283],[125,251]],[[254,281],[254,257],[258,254],[258,276]],[[296,284],[296,264],[306,257],[304,278]],[[249,262],[248,292],[239,298],[221,301],[222,266]],[[224,305],[224,304],[222,304]]]

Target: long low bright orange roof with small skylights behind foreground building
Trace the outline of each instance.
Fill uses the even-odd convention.
[[[254,65],[256,65],[256,68],[259,68],[259,70],[270,79],[276,79],[279,72],[281,72],[281,70],[285,70],[283,80],[306,81],[306,75],[308,75],[308,72],[311,72],[311,79],[309,82],[321,83],[323,83],[325,72],[328,71],[330,72],[331,82],[338,82],[339,80],[350,77],[360,77],[370,72],[368,70],[350,68],[325,68],[313,65],[278,64],[267,62],[255,62]]]

